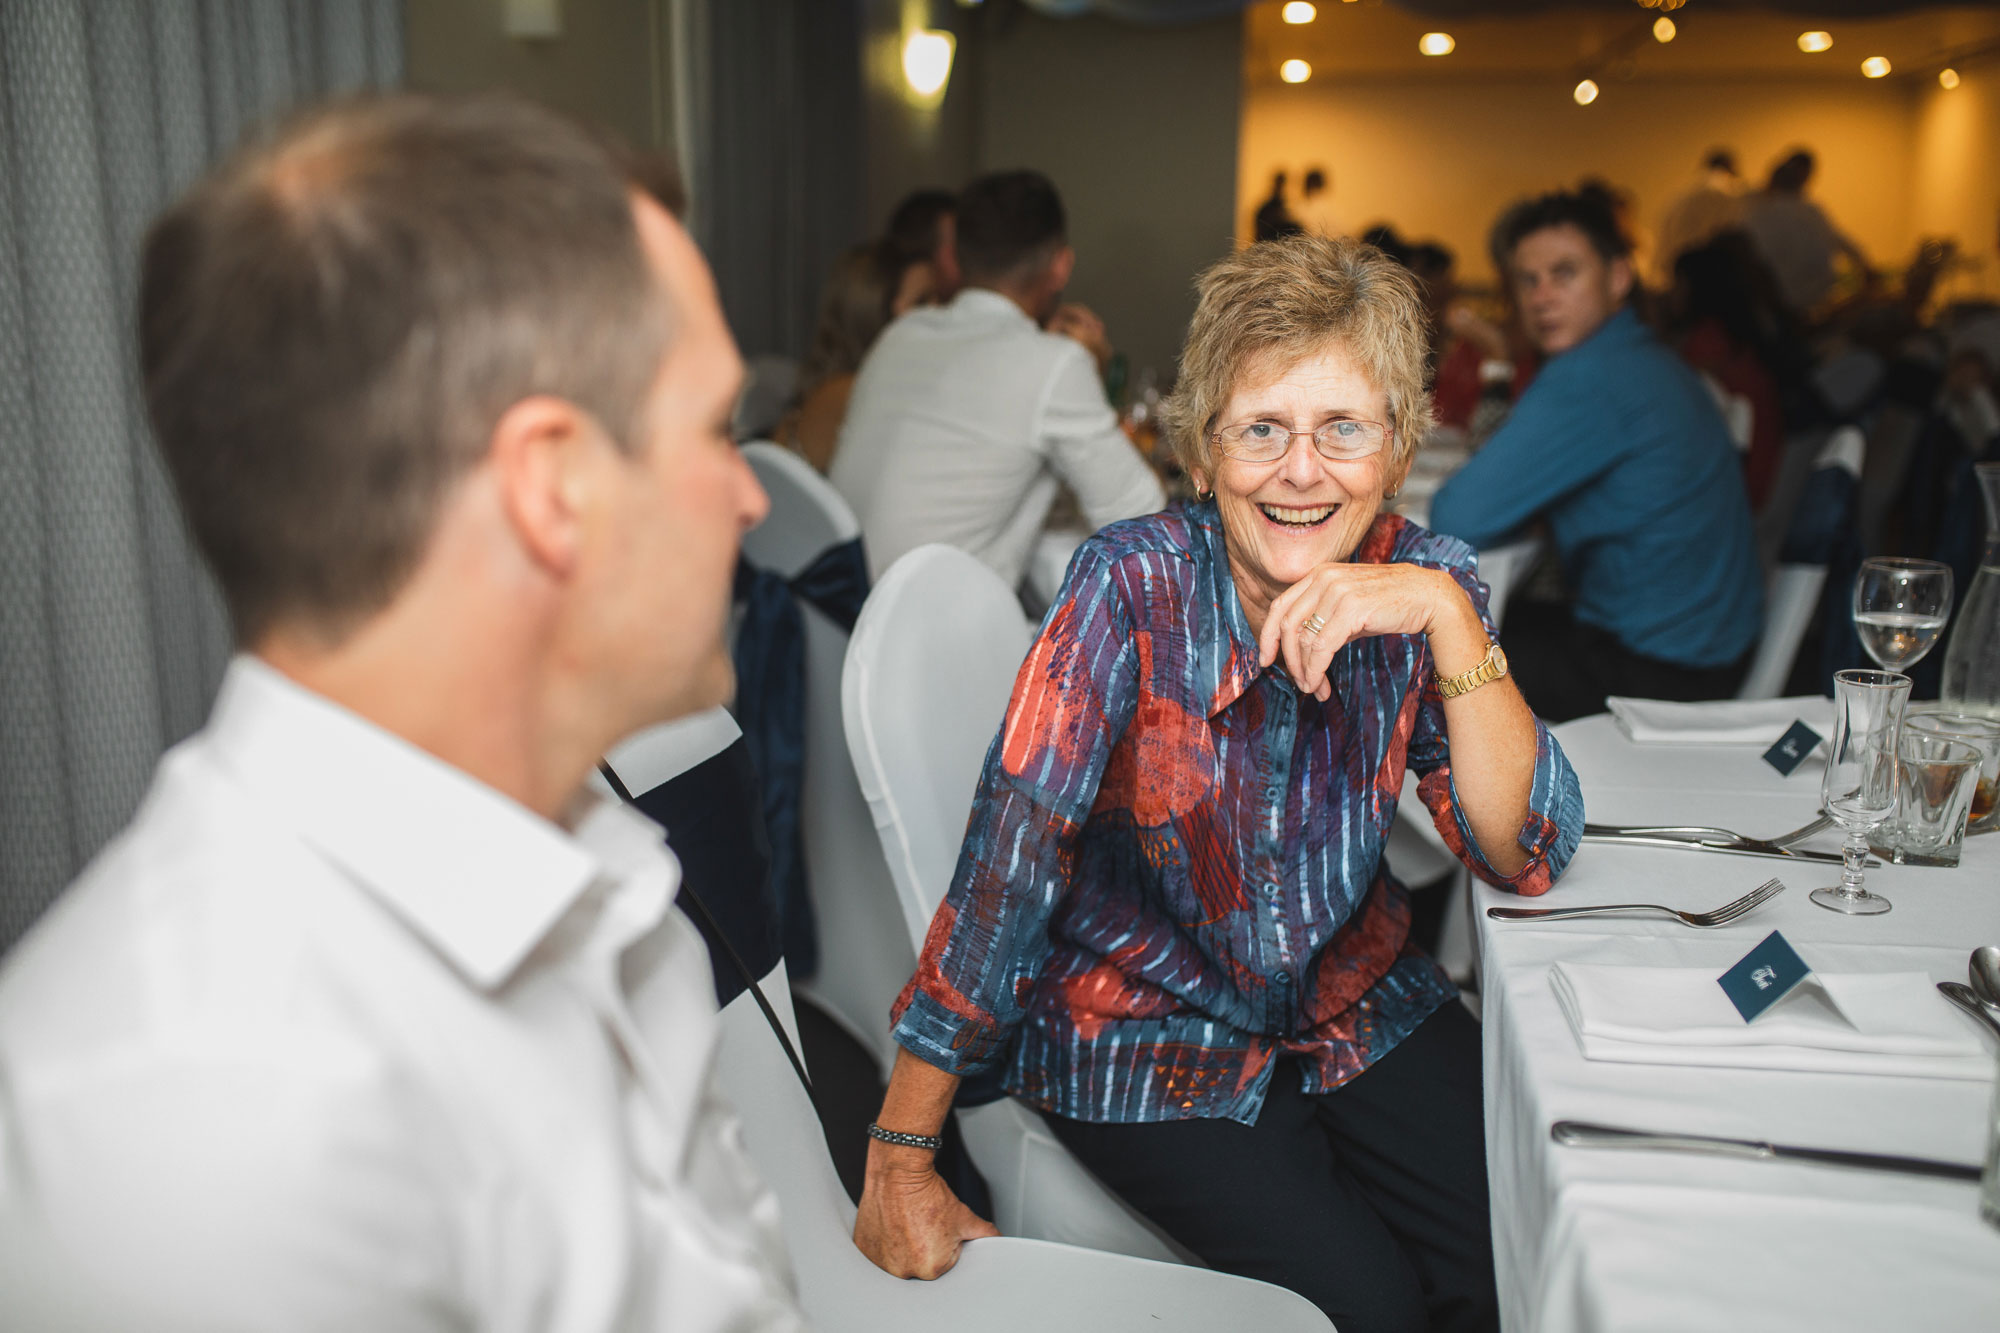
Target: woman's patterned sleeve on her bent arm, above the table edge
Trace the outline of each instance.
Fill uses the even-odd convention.
[[[1498,638],[1486,608],[1486,584],[1466,566],[1454,564],[1450,574],[1472,596],[1480,620],[1486,622],[1486,634]],[[1518,835],[1522,851],[1528,853],[1528,865],[1512,875],[1502,875],[1486,861],[1458,803],[1458,789],[1452,781],[1452,745],[1444,729],[1444,697],[1438,693],[1436,673],[1426,669],[1422,677],[1422,701],[1416,709],[1416,727],[1410,733],[1410,771],[1418,775],[1416,795],[1430,809],[1438,837],[1488,885],[1528,897],[1548,893],[1550,885],[1568,869],[1570,857],[1576,855],[1576,845],[1584,837],[1584,793],[1576,781],[1576,769],[1570,767],[1556,739],[1548,735],[1542,719],[1534,719],[1534,781],[1528,787],[1528,817]]]

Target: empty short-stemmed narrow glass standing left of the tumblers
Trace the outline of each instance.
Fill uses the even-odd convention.
[[[1910,703],[1910,677],[1894,671],[1834,673],[1834,735],[1826,743],[1820,801],[1848,839],[1840,847],[1840,883],[1814,889],[1812,901],[1836,913],[1872,917],[1890,903],[1862,887],[1868,833],[1896,811],[1896,739]]]

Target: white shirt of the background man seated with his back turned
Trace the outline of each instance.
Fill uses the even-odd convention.
[[[1166,504],[1118,430],[1090,352],[976,286],[882,330],[830,476],[862,524],[874,576],[946,542],[1018,586],[1062,484],[1092,528]]]

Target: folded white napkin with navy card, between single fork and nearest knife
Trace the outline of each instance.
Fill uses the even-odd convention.
[[[1702,967],[1556,963],[1548,981],[1588,1061],[1994,1077],[1986,1039],[1924,973],[1814,973],[1744,1023]],[[1820,983],[1832,1005],[1812,991]]]

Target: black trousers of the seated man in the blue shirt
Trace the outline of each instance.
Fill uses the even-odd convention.
[[[1560,602],[1512,602],[1506,608],[1508,675],[1544,723],[1604,713],[1608,695],[1636,699],[1734,699],[1750,658],[1728,666],[1676,666],[1644,656],[1596,624],[1578,624]]]

